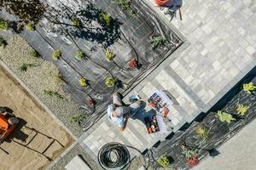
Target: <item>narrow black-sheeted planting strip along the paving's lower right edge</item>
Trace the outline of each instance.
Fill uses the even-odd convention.
[[[226,94],[217,105],[213,106],[207,116],[187,126],[186,130],[173,134],[170,139],[166,139],[157,148],[154,148],[152,154],[154,159],[166,156],[169,161],[168,167],[189,169],[193,166],[189,165],[186,150],[192,151],[190,153],[198,160],[207,155],[218,156],[218,146],[256,118],[256,96],[253,94],[254,92],[249,94],[242,89],[243,84],[248,82],[256,84],[255,69],[229,94]],[[223,113],[228,115],[219,116]],[[197,164],[195,160],[193,163]],[[154,166],[159,167],[160,165],[155,163]]]

